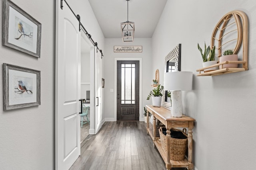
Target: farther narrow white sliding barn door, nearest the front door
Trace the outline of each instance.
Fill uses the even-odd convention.
[[[96,48],[95,54],[95,134],[97,134],[102,126],[102,59],[101,53],[97,53]]]

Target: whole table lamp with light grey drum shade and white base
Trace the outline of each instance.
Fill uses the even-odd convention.
[[[193,73],[177,71],[164,73],[164,90],[172,94],[172,117],[182,117],[181,91],[192,90]]]

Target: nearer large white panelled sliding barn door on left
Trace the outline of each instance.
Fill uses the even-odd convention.
[[[80,155],[80,46],[78,20],[56,1],[56,170],[68,170]]]

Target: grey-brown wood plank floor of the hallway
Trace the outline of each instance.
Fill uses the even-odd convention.
[[[185,168],[172,168],[184,170]],[[166,170],[146,123],[105,122],[97,135],[81,143],[81,156],[70,170]]]

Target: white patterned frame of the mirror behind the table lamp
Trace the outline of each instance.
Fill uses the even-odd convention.
[[[181,71],[181,44],[178,44],[166,57],[164,58],[164,72],[167,72],[167,62],[171,59],[174,59],[175,61],[175,71]],[[167,91],[164,91],[163,97],[162,97],[162,106],[165,109],[171,110],[171,103],[165,102],[165,96],[167,95]]]

